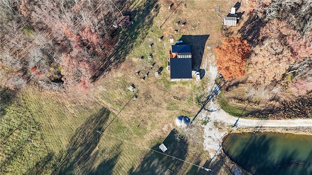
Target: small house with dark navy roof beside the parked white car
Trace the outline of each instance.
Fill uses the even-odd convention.
[[[190,45],[172,45],[170,50],[170,81],[192,80]]]

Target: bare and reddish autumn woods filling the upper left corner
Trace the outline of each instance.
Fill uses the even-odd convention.
[[[1,0],[0,85],[17,89],[32,80],[50,89],[88,88],[99,63],[110,60],[112,24],[128,3]]]

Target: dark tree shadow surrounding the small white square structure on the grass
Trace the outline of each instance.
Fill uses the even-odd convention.
[[[161,143],[154,145],[151,149],[162,152],[158,146]],[[165,154],[185,159],[188,151],[188,144],[185,140],[176,140],[176,130],[173,129],[167,138],[163,141],[163,144],[168,148]],[[168,157],[153,151],[150,151],[143,158],[141,164],[135,169],[132,167],[128,174],[131,175],[169,175],[172,172],[174,174],[181,174],[183,161]],[[171,172],[172,171],[172,172]],[[183,173],[182,173],[183,174]]]

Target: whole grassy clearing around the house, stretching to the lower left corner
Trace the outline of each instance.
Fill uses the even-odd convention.
[[[122,62],[100,77],[89,92],[48,91],[36,86],[19,92],[1,89],[0,174],[169,175],[168,169],[183,175],[206,173],[147,148],[158,150],[164,142],[169,155],[201,166],[209,161],[200,129],[198,143],[175,137],[180,132],[175,130],[175,118],[195,116],[207,93],[208,78],[199,83],[195,79],[168,81],[169,36],[177,40],[182,35],[209,35],[203,47],[214,47],[220,42],[222,22],[215,7],[221,6],[227,14],[225,9],[235,1],[185,1],[180,5],[174,1],[171,10],[169,1],[137,2],[133,7],[137,11],[135,26],[118,34],[128,39],[119,43],[118,50],[127,50],[120,54]],[[147,15],[146,21],[140,21]],[[176,26],[177,20],[186,21],[186,26]],[[162,41],[160,36],[164,36]],[[200,61],[207,67],[204,63],[208,64],[212,50],[203,51]],[[155,77],[161,68],[162,75]],[[135,93],[127,89],[131,84],[136,86],[137,97],[127,104]]]

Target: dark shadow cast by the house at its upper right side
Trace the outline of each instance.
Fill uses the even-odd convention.
[[[179,40],[191,45],[192,70],[199,70],[209,35],[182,35]]]

